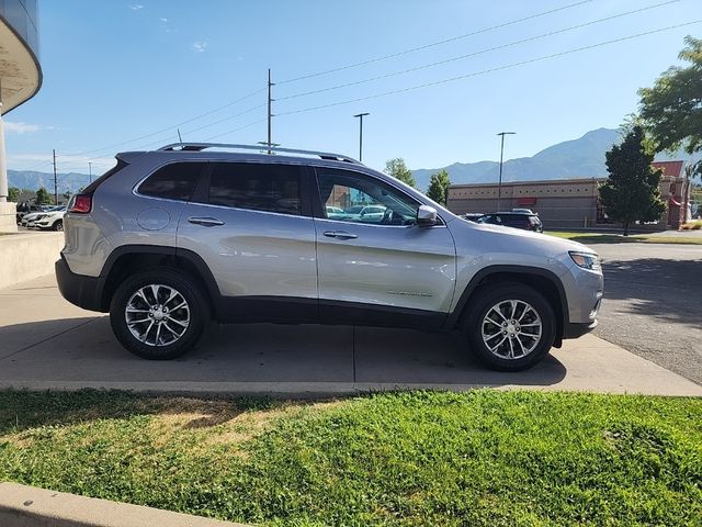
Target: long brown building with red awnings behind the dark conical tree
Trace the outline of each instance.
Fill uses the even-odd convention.
[[[667,211],[657,224],[645,228],[678,228],[684,221],[689,201],[689,182],[683,173],[683,161],[654,162],[664,171],[660,194]],[[500,209],[531,209],[539,213],[545,228],[589,228],[613,225],[599,204],[598,187],[607,178],[559,179],[548,181],[502,182]],[[449,209],[456,214],[466,212],[497,212],[498,184],[452,184],[449,189]]]

